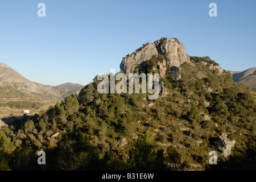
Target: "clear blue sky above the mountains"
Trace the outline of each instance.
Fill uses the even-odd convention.
[[[46,17],[37,15],[41,2]],[[1,0],[0,62],[41,84],[86,85],[119,71],[142,44],[176,37],[188,55],[243,71],[256,67],[255,9],[254,0]]]

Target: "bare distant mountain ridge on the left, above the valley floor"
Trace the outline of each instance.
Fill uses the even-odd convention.
[[[61,100],[83,88],[79,84],[49,86],[27,80],[8,65],[0,63],[0,98],[31,98],[32,100]]]

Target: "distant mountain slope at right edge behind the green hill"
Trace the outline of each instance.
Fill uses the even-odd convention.
[[[235,82],[241,82],[252,88],[256,88],[256,67],[246,69],[243,72],[230,71]]]

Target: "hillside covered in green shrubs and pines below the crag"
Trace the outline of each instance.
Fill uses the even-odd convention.
[[[70,94],[23,123],[3,126],[0,169],[256,169],[255,92],[207,56],[182,53],[186,61],[180,61],[177,51],[175,72],[168,62],[172,52],[164,48],[169,41],[182,49],[177,40],[161,39],[123,58],[126,71],[160,73],[157,100],[147,100],[147,93],[99,94],[95,77],[78,96]],[[154,46],[154,55],[129,67],[135,54]],[[234,141],[230,151],[223,136],[226,143]],[[46,165],[40,166],[41,150]],[[210,151],[217,152],[218,165],[209,164]]]

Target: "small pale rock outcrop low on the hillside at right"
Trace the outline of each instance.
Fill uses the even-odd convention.
[[[219,136],[219,139],[217,140],[217,142],[221,144],[221,148],[219,148],[219,150],[222,151],[222,155],[225,157],[230,156],[231,149],[232,147],[234,147],[234,144],[235,144],[235,140],[230,141],[227,138],[227,135],[223,133],[221,134],[221,136]]]

